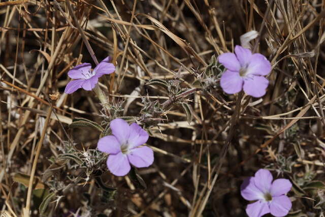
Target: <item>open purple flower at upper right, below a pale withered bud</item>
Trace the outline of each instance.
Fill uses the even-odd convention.
[[[220,86],[226,94],[236,94],[244,88],[247,95],[263,97],[269,81],[264,77],[271,72],[270,61],[261,53],[254,53],[241,46],[235,53],[223,53],[218,57],[227,70],[222,74]]]

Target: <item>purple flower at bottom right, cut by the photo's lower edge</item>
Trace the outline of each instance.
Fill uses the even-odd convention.
[[[269,170],[259,169],[255,176],[248,177],[241,185],[241,195],[246,200],[257,200],[248,204],[249,217],[260,217],[271,212],[274,216],[285,216],[291,209],[291,201],[285,195],[291,182],[285,178],[275,179]]]

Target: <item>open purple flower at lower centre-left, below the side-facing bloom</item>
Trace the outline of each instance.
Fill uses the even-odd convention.
[[[107,167],[116,176],[126,175],[130,163],[138,168],[149,167],[153,163],[153,151],[144,144],[149,135],[137,123],[128,123],[120,118],[110,122],[111,136],[105,136],[98,141],[97,148],[109,153]]]

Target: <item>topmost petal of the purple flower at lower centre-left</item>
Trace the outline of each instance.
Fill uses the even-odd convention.
[[[128,123],[121,118],[116,118],[110,122],[110,128],[117,141],[120,144],[126,144],[131,131]]]

